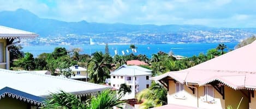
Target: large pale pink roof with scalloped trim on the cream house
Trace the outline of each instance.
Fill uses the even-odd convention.
[[[256,41],[197,66],[155,76],[171,77],[178,82],[203,86],[220,81],[233,89],[256,89]]]

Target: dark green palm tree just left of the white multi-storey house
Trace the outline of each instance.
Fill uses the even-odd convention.
[[[105,79],[110,77],[111,60],[112,58],[108,54],[104,55],[102,52],[96,52],[92,55],[88,73],[94,83],[104,83]]]

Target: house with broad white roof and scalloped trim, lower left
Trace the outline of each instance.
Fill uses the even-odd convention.
[[[0,82],[0,108],[37,108],[51,98],[50,93],[64,91],[86,98],[110,88],[26,70],[0,69]]]

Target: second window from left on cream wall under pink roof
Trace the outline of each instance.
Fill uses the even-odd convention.
[[[210,85],[204,86],[204,100],[207,102],[214,101],[213,87]]]

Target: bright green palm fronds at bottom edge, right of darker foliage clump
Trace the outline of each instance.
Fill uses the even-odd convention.
[[[116,92],[106,90],[98,94],[97,97],[91,99],[88,109],[110,109],[113,106],[122,108],[122,104],[126,101],[121,101],[121,97],[116,96]]]

